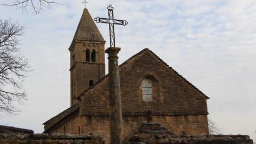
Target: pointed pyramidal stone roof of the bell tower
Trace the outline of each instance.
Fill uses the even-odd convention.
[[[75,36],[73,41],[71,42],[70,47],[76,41],[97,41],[97,42],[105,42],[102,35],[100,34],[99,29],[95,25],[89,11],[84,9],[81,20],[77,26]],[[69,47],[69,49],[70,49]]]

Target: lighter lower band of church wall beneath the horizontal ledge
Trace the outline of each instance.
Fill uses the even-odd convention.
[[[147,116],[123,116],[124,139],[132,137],[132,134],[139,129],[143,122],[147,121]],[[207,116],[153,116],[153,121],[164,126],[174,134],[185,132],[190,135],[207,134]],[[78,134],[78,127],[81,134],[97,133],[102,135],[106,143],[109,143],[109,118],[108,116],[82,116],[79,120],[74,120],[52,133]],[[206,133],[207,132],[207,133]]]

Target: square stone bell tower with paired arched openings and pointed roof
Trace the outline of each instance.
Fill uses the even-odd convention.
[[[70,103],[105,76],[105,43],[89,11],[84,9],[70,52]]]

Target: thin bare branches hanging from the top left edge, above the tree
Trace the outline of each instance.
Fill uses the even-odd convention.
[[[21,9],[27,11],[27,8],[32,9],[35,14],[43,14],[46,12],[45,9],[51,9],[52,4],[60,4],[51,0],[19,0],[13,1],[12,3],[0,3],[3,6],[11,6],[14,9]]]

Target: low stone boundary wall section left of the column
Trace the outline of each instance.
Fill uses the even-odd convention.
[[[99,136],[76,134],[6,134],[0,133],[1,144],[104,144]]]

